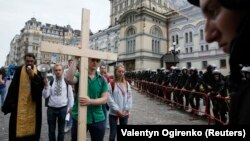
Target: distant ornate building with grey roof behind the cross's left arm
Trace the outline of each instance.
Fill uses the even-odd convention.
[[[43,25],[35,18],[31,18],[25,23],[20,35],[16,35],[11,41],[6,64],[21,65],[24,63],[25,53],[32,52],[36,56],[37,64],[62,63],[66,65],[71,56],[41,52],[41,41],[77,46],[79,39],[80,31],[73,30],[69,25],[66,27],[47,23]],[[54,62],[51,61],[52,56],[56,56]]]

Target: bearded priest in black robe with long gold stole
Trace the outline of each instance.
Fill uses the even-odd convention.
[[[34,54],[24,56],[16,69],[2,111],[10,113],[9,141],[39,141],[44,81],[35,66]]]

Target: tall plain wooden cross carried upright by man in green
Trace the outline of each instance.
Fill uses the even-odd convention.
[[[64,46],[61,44],[53,44],[49,42],[41,42],[41,51],[50,53],[59,53],[73,56],[81,56],[80,61],[80,84],[79,96],[87,96],[88,85],[88,57],[104,60],[117,60],[117,54],[101,52],[88,49],[89,45],[89,10],[82,9],[82,27],[81,27],[81,48],[75,46]],[[86,140],[87,125],[87,107],[80,106],[78,103],[78,141]]]

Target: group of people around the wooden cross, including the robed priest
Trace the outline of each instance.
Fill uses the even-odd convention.
[[[86,124],[91,140],[102,141],[109,127],[109,140],[115,140],[117,125],[128,124],[132,108],[132,92],[125,78],[125,67],[118,64],[111,80],[104,65],[101,72],[97,72],[100,59],[90,58],[88,94],[81,97],[78,90],[79,61],[79,57],[69,60],[69,67],[65,70],[62,64],[54,64],[53,78],[49,79],[38,70],[34,54],[25,54],[25,63],[16,67],[6,98],[1,98],[2,112],[11,114],[9,141],[39,141],[43,120],[42,97],[47,106],[49,141],[63,141],[68,128],[71,129],[71,141],[77,141],[78,103],[87,106]],[[2,69],[0,78],[2,97],[6,93],[6,77]]]

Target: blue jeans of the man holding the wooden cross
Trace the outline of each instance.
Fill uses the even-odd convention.
[[[103,141],[105,134],[105,120],[87,124],[87,130],[90,133],[91,141]],[[77,120],[75,120],[74,118],[71,128],[71,141],[77,141]]]

